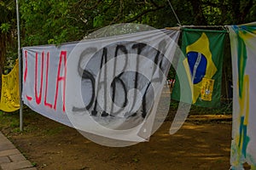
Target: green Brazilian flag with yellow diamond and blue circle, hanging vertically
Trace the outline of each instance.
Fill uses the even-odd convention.
[[[193,105],[215,107],[219,105],[222,82],[222,63],[226,31],[183,28],[182,52],[179,64],[183,65],[191,90]],[[176,77],[172,99],[180,100],[181,79]],[[188,82],[188,81],[187,81]]]

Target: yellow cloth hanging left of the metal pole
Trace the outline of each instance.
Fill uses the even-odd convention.
[[[17,111],[20,109],[19,93],[19,62],[8,75],[2,75],[2,92],[0,110],[6,112]]]

